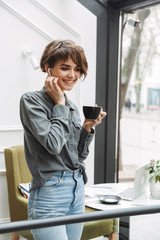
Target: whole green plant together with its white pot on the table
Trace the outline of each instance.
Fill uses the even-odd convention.
[[[151,196],[160,199],[160,160],[151,160],[146,170],[149,171]]]

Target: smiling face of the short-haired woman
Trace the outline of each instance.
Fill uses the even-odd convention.
[[[81,76],[81,69],[69,57],[66,61],[58,61],[50,68],[51,75],[58,78],[58,86],[61,90],[70,91]]]

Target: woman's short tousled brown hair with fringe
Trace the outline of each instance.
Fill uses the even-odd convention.
[[[50,42],[41,56],[40,67],[43,72],[46,72],[46,63],[48,63],[49,67],[54,67],[58,61],[66,61],[68,57],[71,57],[73,62],[81,68],[81,77],[83,76],[83,79],[85,79],[88,63],[84,50],[71,40],[54,40]]]

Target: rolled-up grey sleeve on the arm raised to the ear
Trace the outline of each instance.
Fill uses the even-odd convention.
[[[27,134],[32,134],[51,154],[61,152],[69,138],[69,108],[55,105],[51,116],[35,96],[23,95],[20,100],[20,117]]]

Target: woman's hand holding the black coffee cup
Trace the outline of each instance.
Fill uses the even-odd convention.
[[[100,124],[105,116],[107,116],[107,113],[101,109],[101,112],[96,120],[85,119],[82,127],[85,128],[87,132],[90,132],[91,128]]]

